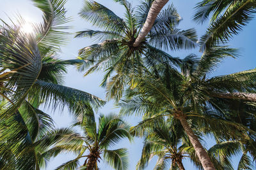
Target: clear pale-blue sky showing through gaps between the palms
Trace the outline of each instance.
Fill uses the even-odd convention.
[[[129,0],[133,6],[136,6],[140,1],[138,0]],[[120,17],[124,16],[124,8],[119,4],[115,3],[113,0],[97,0],[98,3],[103,4],[108,7],[112,11],[114,11]],[[180,23],[180,29],[188,29],[191,27],[195,27],[198,35],[202,35],[205,32],[207,27],[207,22],[205,25],[198,25],[191,19],[194,13],[193,7],[196,4],[196,0],[170,0],[168,4],[173,3],[175,8],[177,8],[180,16],[183,18]],[[91,24],[82,20],[77,13],[81,10],[83,6],[83,0],[67,0],[67,15],[72,17],[72,22],[68,23],[74,27],[71,32],[83,31],[84,29],[97,29],[92,27]],[[36,9],[33,6],[33,3],[29,0],[1,0],[0,6],[0,18],[3,20],[8,20],[8,15],[10,18],[17,16],[20,14],[24,17],[25,20],[29,22],[40,22],[42,20],[42,13],[40,10]],[[243,71],[246,69],[253,69],[256,67],[256,56],[255,56],[255,44],[256,44],[256,20],[252,20],[250,24],[248,24],[243,31],[240,32],[238,36],[234,36],[234,39],[230,41],[229,45],[234,48],[239,48],[241,57],[238,59],[226,59],[218,69],[212,74],[212,76],[221,75],[221,74],[229,74],[235,73],[237,71]],[[61,48],[62,52],[60,53],[61,59],[76,59],[77,52],[80,48],[84,46],[92,45],[93,42],[91,39],[70,39],[70,43],[67,46]],[[200,55],[198,49],[196,50],[188,50],[182,52],[170,52],[175,57],[185,57],[189,53],[196,53],[196,55]],[[100,81],[102,80],[102,73],[93,73],[89,76],[83,77],[83,73],[78,73],[76,71],[76,67],[68,67],[68,74],[65,78],[64,85],[68,87],[73,87],[79,90],[84,90],[85,92],[89,92],[95,96],[101,97],[105,99],[105,90],[99,87]],[[72,118],[70,117],[67,110],[64,110],[60,113],[60,111],[56,111],[56,113],[52,113],[51,110],[45,110],[46,113],[49,113],[54,118],[56,122],[56,127],[67,127]],[[113,102],[109,102],[104,106],[100,111],[100,113],[108,114],[110,112],[118,113],[118,108],[113,106]],[[137,122],[140,122],[140,117],[130,117],[126,118],[126,120],[131,125],[136,125]],[[223,129],[224,130],[224,129]],[[140,159],[141,148],[143,146],[142,139],[134,139],[133,143],[129,143],[129,141],[124,140],[118,144],[116,147],[126,147],[129,149],[130,162],[129,162],[129,170],[135,169],[136,163]],[[204,146],[209,148],[214,144],[213,139],[206,138]],[[68,160],[74,159],[75,155],[72,154],[63,154],[60,155],[49,162],[46,170],[52,170],[57,166],[60,166],[62,163],[67,162]],[[238,164],[237,157],[233,159],[234,164]],[[82,161],[81,161],[82,162]],[[147,167],[148,170],[153,169],[154,163],[156,159],[153,159]],[[83,163],[83,162],[82,162]],[[184,166],[186,169],[193,170],[195,167],[189,160],[184,160]],[[100,169],[111,169],[111,167],[106,166],[106,164],[100,162]]]

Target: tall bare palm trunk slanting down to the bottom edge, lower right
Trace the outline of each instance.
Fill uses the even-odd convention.
[[[192,143],[193,147],[195,148],[196,155],[198,156],[204,170],[215,170],[209,155],[205,151],[204,147],[201,145],[200,141],[198,140],[197,136],[194,134],[192,129],[189,127],[189,124],[185,117],[179,117],[180,123],[184,128],[186,134],[188,134],[189,140]]]

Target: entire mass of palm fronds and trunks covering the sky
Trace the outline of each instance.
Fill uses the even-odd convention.
[[[99,169],[104,160],[114,169],[128,168],[128,151],[117,148],[122,139],[144,138],[137,169],[158,157],[154,169],[184,169],[188,158],[198,169],[254,169],[256,160],[256,69],[212,76],[221,61],[236,58],[228,41],[253,19],[256,1],[202,0],[194,20],[211,18],[198,40],[195,29],[179,29],[182,18],[168,0],[144,0],[135,8],[126,0],[124,17],[96,1],[84,1],[79,15],[99,30],[86,29],[76,38],[96,44],[79,50],[78,59],[57,54],[68,42],[65,0],[31,0],[43,21],[33,32],[22,31],[26,21],[0,26],[0,169],[40,169],[51,157],[77,157],[57,169]],[[170,52],[200,46],[202,55],[183,59]],[[101,86],[107,99],[116,99],[120,115],[94,112],[105,102],[63,85],[67,66],[85,76],[104,71]],[[41,106],[68,111],[71,127],[56,129]],[[130,127],[122,115],[141,115]],[[79,129],[81,133],[76,130]],[[223,131],[224,129],[224,131]],[[216,144],[208,150],[204,136]],[[238,167],[232,158],[239,157]],[[80,163],[81,162],[81,163]]]

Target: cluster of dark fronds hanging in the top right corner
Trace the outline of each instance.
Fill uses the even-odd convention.
[[[256,1],[203,0],[195,8],[194,20],[203,23],[211,16],[207,32],[200,39],[200,48],[204,51],[216,44],[226,43],[238,34],[253,19]]]

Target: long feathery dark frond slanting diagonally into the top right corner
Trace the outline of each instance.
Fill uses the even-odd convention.
[[[207,32],[200,38],[200,50],[211,49],[212,46],[226,43],[233,35],[239,34],[255,13],[255,1],[234,1],[228,6],[223,15],[219,16],[208,27]]]

